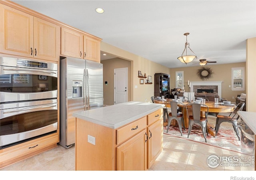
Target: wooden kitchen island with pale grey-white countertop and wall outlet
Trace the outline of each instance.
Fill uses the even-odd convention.
[[[76,170],[147,170],[163,149],[162,104],[126,102],[74,113]]]

